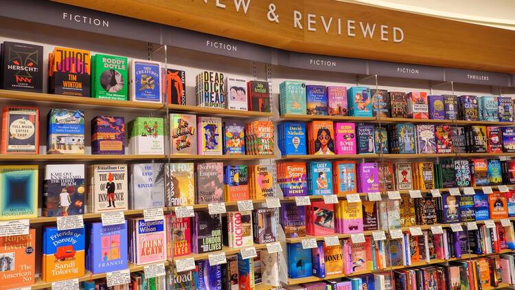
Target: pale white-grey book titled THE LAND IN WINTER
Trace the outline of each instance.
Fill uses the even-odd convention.
[[[133,210],[165,206],[165,164],[133,164],[130,205]]]

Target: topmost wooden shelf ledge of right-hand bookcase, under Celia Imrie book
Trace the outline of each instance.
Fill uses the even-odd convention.
[[[412,119],[412,118],[387,118],[387,117],[356,117],[339,115],[293,115],[286,114],[279,116],[280,121],[313,121],[331,120],[347,122],[370,122],[370,123],[424,123],[424,124],[449,124],[449,125],[483,125],[483,126],[514,126],[515,122],[499,121],[467,121],[467,120],[433,120],[433,119]]]

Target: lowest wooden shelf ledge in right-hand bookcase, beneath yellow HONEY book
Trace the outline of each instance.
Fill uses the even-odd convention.
[[[288,283],[287,284],[288,285],[297,285],[297,284],[301,284],[301,283],[317,282],[317,281],[331,280],[331,279],[344,278],[344,277],[352,277],[352,276],[358,276],[358,275],[363,275],[363,274],[382,273],[382,272],[387,272],[387,271],[396,270],[396,269],[405,269],[405,268],[411,268],[411,267],[427,266],[427,265],[433,265],[433,264],[439,264],[439,263],[446,263],[446,262],[455,261],[455,260],[467,260],[469,258],[479,258],[479,257],[484,257],[484,256],[495,256],[495,255],[499,255],[499,254],[503,254],[503,253],[512,253],[512,252],[514,252],[514,250],[512,250],[512,249],[503,249],[499,253],[492,253],[492,254],[481,254],[481,255],[464,254],[464,255],[461,255],[461,258],[449,258],[449,259],[446,259],[446,260],[432,259],[429,262],[417,261],[417,262],[411,263],[411,265],[409,265],[409,266],[386,267],[384,269],[378,269],[378,270],[375,270],[375,271],[372,271],[372,270],[359,271],[359,272],[356,272],[356,273],[353,273],[353,274],[350,274],[350,275],[337,274],[337,275],[325,276],[324,278],[319,278],[319,277],[315,277],[315,276],[308,276],[308,277],[303,277],[303,278],[288,278]],[[496,288],[509,287],[509,286],[510,285],[507,284],[507,283],[501,283],[501,284],[499,284],[499,287],[496,287]]]

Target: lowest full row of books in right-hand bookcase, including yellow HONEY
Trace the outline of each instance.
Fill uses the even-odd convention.
[[[365,236],[363,243],[352,243],[351,238],[343,238],[336,245],[317,241],[317,246],[311,249],[305,249],[302,243],[288,243],[287,249],[290,278],[325,278],[410,266],[418,261],[430,263],[435,259],[459,259],[468,253],[505,252],[515,249],[515,235],[513,224],[503,227],[496,223],[496,227],[491,229],[481,225],[478,230],[453,232],[446,229],[442,234],[424,230],[420,236],[404,233],[402,238],[381,241]]]

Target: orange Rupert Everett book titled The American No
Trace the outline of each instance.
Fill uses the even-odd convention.
[[[0,289],[14,289],[34,284],[36,230],[22,236],[0,237]]]

